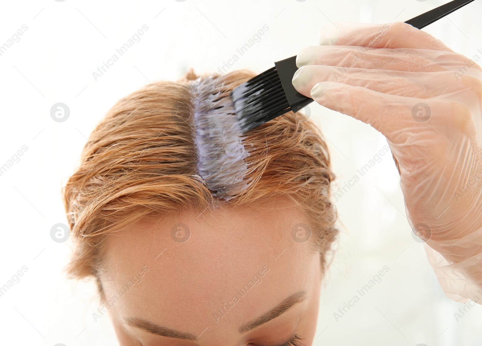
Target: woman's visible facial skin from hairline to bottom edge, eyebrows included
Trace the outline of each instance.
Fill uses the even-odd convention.
[[[107,238],[101,282],[120,345],[282,346],[295,333],[302,338],[295,345],[311,345],[320,254],[310,240],[292,238],[294,225],[309,225],[305,213],[292,202],[278,200],[199,214],[160,216]],[[171,236],[178,223],[190,229],[185,242]],[[242,296],[238,290],[250,280],[254,285]],[[129,281],[133,286],[120,295]],[[248,330],[283,301],[281,310],[286,311]],[[219,309],[225,303],[232,307],[223,316]],[[138,319],[165,336],[134,326]],[[169,337],[165,329],[191,340]]]

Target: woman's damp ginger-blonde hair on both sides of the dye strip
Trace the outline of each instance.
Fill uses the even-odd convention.
[[[67,222],[74,241],[71,278],[96,278],[103,266],[106,237],[141,220],[181,210],[239,208],[255,201],[288,198],[308,216],[310,243],[326,267],[338,233],[330,200],[335,178],[320,130],[300,122],[293,112],[243,134],[249,153],[243,189],[228,199],[216,196],[198,168],[194,113],[199,94],[193,87],[211,79],[217,97],[254,74],[238,70],[223,76],[196,76],[159,81],[120,99],[94,128],[80,163],[62,189]]]

